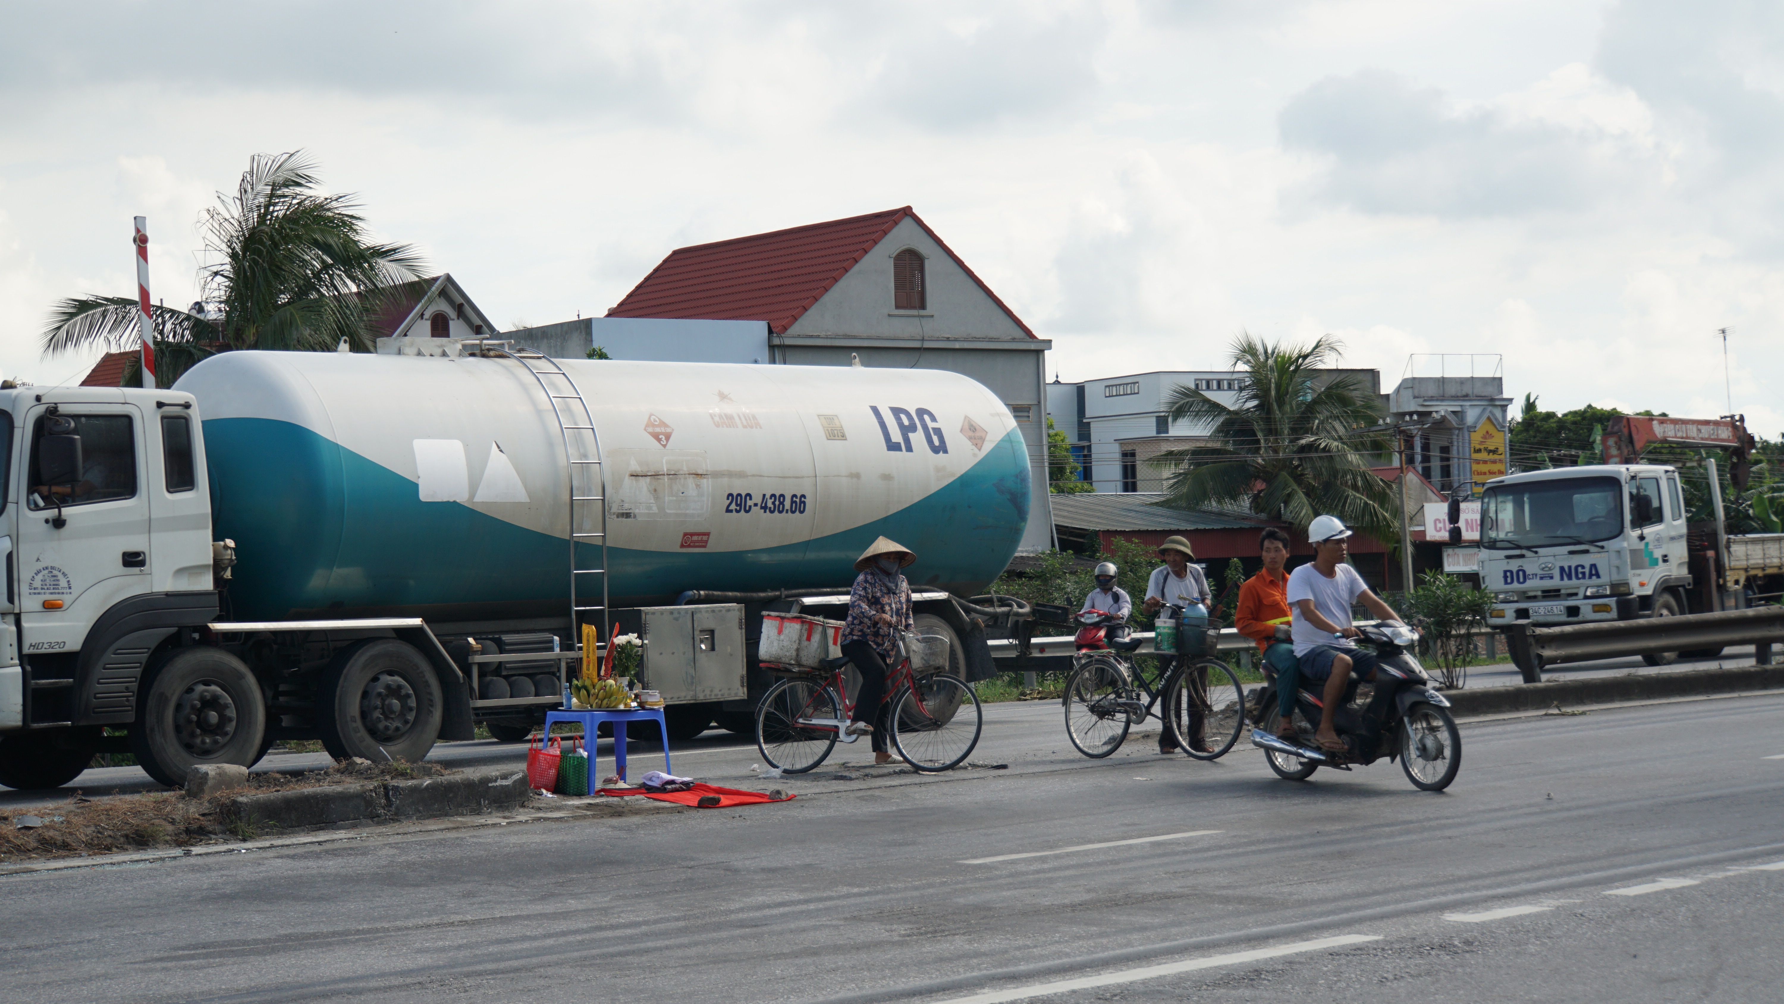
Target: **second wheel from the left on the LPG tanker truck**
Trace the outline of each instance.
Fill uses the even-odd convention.
[[[137,697],[130,753],[150,778],[180,788],[202,763],[253,767],[266,747],[266,695],[248,663],[211,646],[173,653]]]

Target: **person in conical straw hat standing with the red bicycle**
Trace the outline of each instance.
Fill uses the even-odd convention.
[[[897,631],[910,631],[915,621],[910,613],[910,583],[901,569],[917,560],[903,544],[874,540],[860,558],[855,558],[855,588],[849,590],[849,619],[842,626],[842,654],[849,656],[862,674],[862,690],[855,695],[855,715],[846,726],[849,735],[872,735],[874,763],[890,763],[885,729],[876,729],[881,717],[880,703],[887,690],[887,662],[897,651]]]

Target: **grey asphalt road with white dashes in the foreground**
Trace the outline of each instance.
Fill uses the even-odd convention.
[[[1780,713],[1475,722],[1422,794],[1147,737],[1086,761],[1056,706],[999,706],[974,761],[1006,770],[5,877],[0,997],[1777,1000]]]

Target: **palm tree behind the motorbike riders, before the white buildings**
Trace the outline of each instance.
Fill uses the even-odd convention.
[[[1169,398],[1170,417],[1210,428],[1211,442],[1152,462],[1176,467],[1163,505],[1243,505],[1301,531],[1331,514],[1393,542],[1397,501],[1368,464],[1370,455],[1392,449],[1386,433],[1370,430],[1383,421],[1381,403],[1356,380],[1320,380],[1340,350],[1329,335],[1284,346],[1240,333],[1231,362],[1245,380],[1233,405],[1179,383]]]

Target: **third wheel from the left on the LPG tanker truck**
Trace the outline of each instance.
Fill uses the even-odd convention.
[[[371,638],[335,653],[316,695],[316,726],[335,760],[419,763],[441,735],[444,699],[434,667],[396,638]]]

